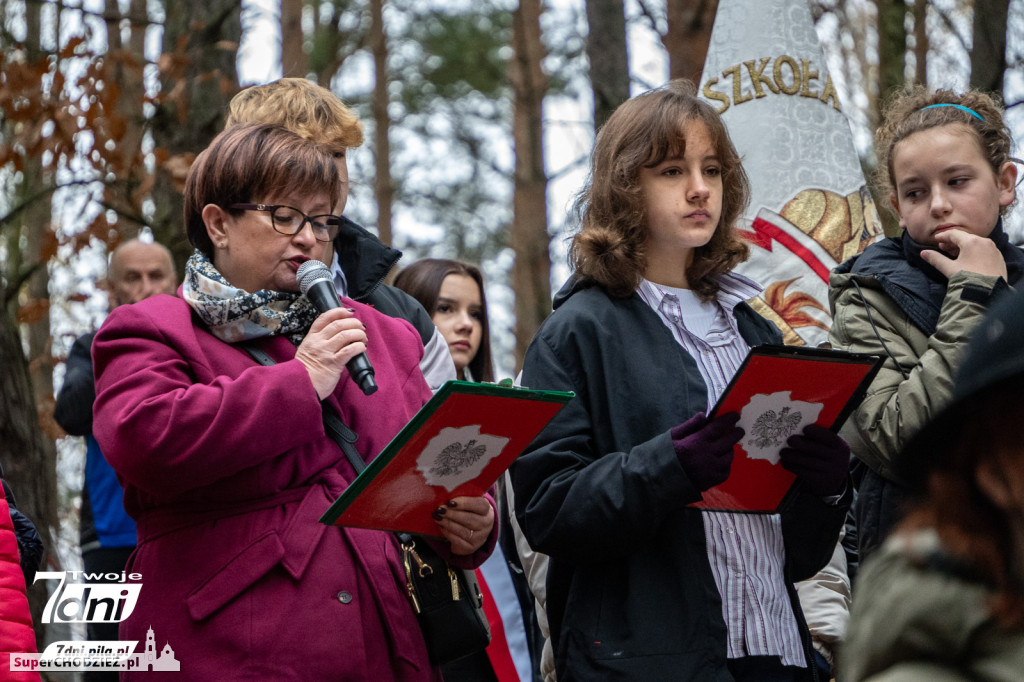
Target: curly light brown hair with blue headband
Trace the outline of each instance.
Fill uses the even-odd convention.
[[[933,104],[956,104],[978,116],[956,106],[926,109]],[[1013,139],[997,95],[980,90],[968,90],[963,94],[952,90],[932,92],[923,85],[915,85],[890,97],[884,106],[882,124],[874,133],[878,156],[874,186],[880,197],[898,196],[893,179],[896,146],[914,133],[948,125],[964,126],[971,131],[993,172],[998,173],[1005,163],[1016,161],[1011,156]],[[1001,207],[999,215],[1006,215],[1011,207],[1013,204]]]

